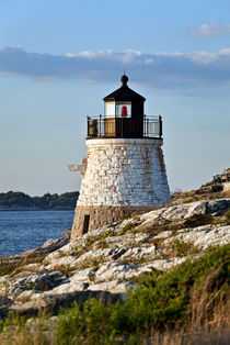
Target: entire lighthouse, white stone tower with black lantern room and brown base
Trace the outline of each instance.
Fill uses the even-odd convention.
[[[162,119],[147,116],[146,99],[128,77],[104,100],[104,115],[88,118],[87,158],[69,169],[82,176],[73,240],[123,216],[171,200],[162,153]]]

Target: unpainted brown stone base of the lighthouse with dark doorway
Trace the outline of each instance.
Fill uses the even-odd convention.
[[[134,214],[157,209],[156,205],[140,207],[77,207],[72,224],[71,241],[103,225],[111,224]]]

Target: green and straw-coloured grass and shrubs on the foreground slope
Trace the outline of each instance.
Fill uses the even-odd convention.
[[[104,305],[91,299],[82,309],[74,303],[59,312],[49,337],[42,323],[36,342],[35,327],[25,333],[25,323],[20,325],[20,320],[1,321],[0,330],[8,326],[5,344],[150,344],[157,335],[154,344],[166,344],[162,341],[175,333],[179,340],[184,338],[179,344],[191,344],[188,335],[214,334],[230,325],[229,258],[230,245],[212,248],[173,270],[153,269],[136,278],[140,288],[130,291],[124,303]]]

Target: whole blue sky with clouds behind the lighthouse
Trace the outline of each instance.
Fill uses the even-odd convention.
[[[230,166],[229,0],[0,0],[0,192],[79,190],[67,165],[124,68],[162,114],[171,191]]]

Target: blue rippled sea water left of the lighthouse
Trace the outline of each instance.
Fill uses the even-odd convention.
[[[60,238],[71,227],[73,211],[0,211],[0,257]]]

